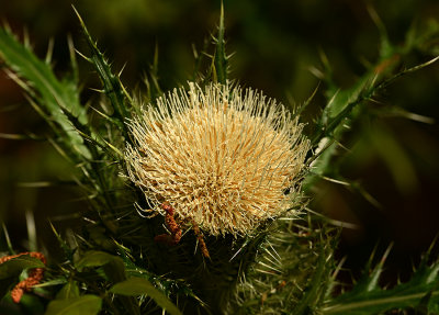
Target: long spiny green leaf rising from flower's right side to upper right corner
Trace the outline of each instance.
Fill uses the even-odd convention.
[[[375,99],[385,92],[385,89],[396,79],[420,70],[439,59],[439,57],[435,56],[424,64],[401,69],[404,65],[404,59],[420,49],[425,42],[409,38],[404,45],[392,45],[385,35],[385,30],[382,27],[383,25],[379,24],[382,36],[378,60],[348,89],[337,87],[331,77],[333,71],[327,64],[326,56],[322,57],[324,67],[326,68],[326,75],[322,79],[328,86],[325,92],[327,103],[323,109],[320,117],[315,123],[316,128],[311,137],[317,155],[311,159],[314,162],[313,170],[305,179],[305,190],[309,189],[317,178],[326,176],[336,177],[335,180],[346,182],[344,178],[338,176],[334,166],[329,167],[329,162],[337,153],[337,147],[342,142],[345,133],[349,131],[362,114],[371,112],[370,108],[376,102]],[[413,30],[409,33],[410,36],[415,36],[414,34],[416,34]],[[434,42],[439,35],[439,26],[430,26],[423,35],[425,41]],[[430,56],[431,54],[434,53],[430,52],[427,55]],[[378,110],[375,109],[374,114],[380,115],[380,112],[389,113],[392,110],[395,111],[393,106],[383,104]],[[401,116],[410,119],[410,113],[404,112],[402,109],[399,110],[399,114]],[[361,190],[356,183],[348,184],[354,190]]]

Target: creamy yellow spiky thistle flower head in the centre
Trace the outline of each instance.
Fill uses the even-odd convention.
[[[180,222],[210,235],[248,234],[294,204],[308,150],[302,127],[251,89],[190,83],[131,122],[128,175]]]

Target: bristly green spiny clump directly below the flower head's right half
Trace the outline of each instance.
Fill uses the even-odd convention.
[[[227,314],[312,314],[319,308],[334,270],[336,230],[311,216],[281,220],[241,277]],[[236,313],[235,313],[236,312]]]

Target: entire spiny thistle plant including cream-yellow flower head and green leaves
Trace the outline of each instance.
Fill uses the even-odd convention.
[[[383,35],[386,49],[352,88],[340,89],[323,76],[326,105],[305,126],[301,114],[313,98],[290,111],[229,77],[223,11],[213,45],[198,55],[207,66],[166,93],[153,76],[140,97],[113,72],[77,15],[89,48],[78,54],[94,67],[104,97],[90,108],[80,101],[71,43],[76,75],[58,79],[11,31],[0,30],[0,59],[50,126],[47,140],[71,164],[72,181],[88,202],[75,214],[81,218],[76,229],[52,225],[61,261],[50,259],[50,250],[44,263],[41,254],[12,256],[9,241],[9,256],[0,261],[7,312],[25,306],[48,315],[439,311],[432,250],[407,282],[390,289],[379,282],[389,252],[379,263],[372,257],[352,290],[340,292],[342,260],[335,257],[340,229],[308,209],[322,178],[362,191],[329,178],[344,134],[393,81],[437,60],[399,70],[395,56],[434,43],[439,27],[403,47]],[[7,227],[3,232],[8,236]],[[31,280],[19,282],[26,275]],[[19,284],[23,292],[32,290],[24,295],[29,300],[9,300],[16,282],[32,282]]]

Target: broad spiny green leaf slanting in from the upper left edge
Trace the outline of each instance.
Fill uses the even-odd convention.
[[[87,124],[86,109],[80,104],[79,91],[70,82],[60,81],[54,75],[50,66],[40,60],[32,50],[21,44],[13,34],[0,29],[0,59],[19,76],[12,78],[34,99],[40,106],[50,114],[67,136],[70,146],[81,156],[90,157],[81,136],[72,128],[65,111]],[[24,78],[30,83],[23,82]]]

